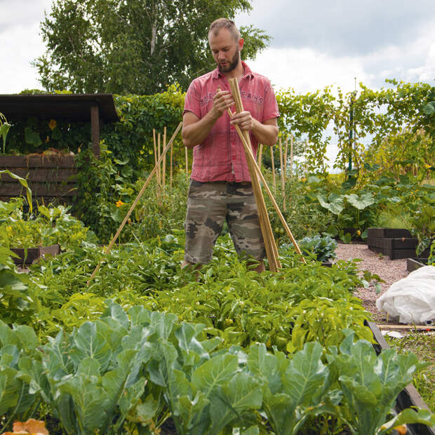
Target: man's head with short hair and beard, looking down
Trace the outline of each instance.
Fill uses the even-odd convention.
[[[208,30],[208,43],[220,72],[232,72],[239,65],[243,39],[232,20],[219,18]]]

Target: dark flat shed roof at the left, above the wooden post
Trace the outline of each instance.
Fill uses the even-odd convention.
[[[9,122],[29,116],[91,121],[93,106],[98,106],[102,121],[119,121],[111,93],[0,95],[0,112]]]

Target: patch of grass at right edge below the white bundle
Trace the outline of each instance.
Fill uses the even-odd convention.
[[[403,338],[385,337],[399,352],[413,352],[430,366],[414,376],[413,384],[432,413],[435,413],[435,333],[412,331]]]

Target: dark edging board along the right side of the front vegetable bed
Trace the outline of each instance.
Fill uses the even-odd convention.
[[[370,328],[373,337],[375,337],[377,344],[373,344],[373,347],[375,348],[376,354],[379,355],[382,349],[388,349],[389,344],[385,341],[384,336],[380,332],[380,329],[377,328],[376,323],[364,321],[364,324]],[[422,396],[418,394],[417,389],[415,389],[413,384],[409,384],[399,393],[399,396],[397,396],[396,410],[400,412],[413,406],[429,410],[429,406],[424,402]],[[425,424],[407,424],[406,426],[411,435],[435,435],[435,427],[429,427]]]

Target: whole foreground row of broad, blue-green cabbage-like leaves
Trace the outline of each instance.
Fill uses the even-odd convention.
[[[5,426],[39,401],[62,431],[79,435],[152,431],[168,416],[178,434],[192,435],[271,427],[293,435],[313,415],[338,415],[352,433],[370,435],[434,422],[424,410],[386,422],[396,394],[423,366],[413,354],[389,349],[376,358],[370,343],[354,343],[349,330],[340,352],[318,342],[292,356],[271,354],[264,344],[222,349],[206,330],[143,307],[126,312],[111,300],[99,319],[60,331],[43,346],[31,328],[0,323]]]

